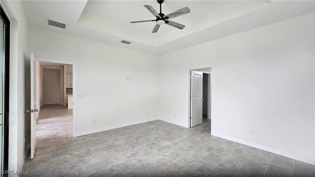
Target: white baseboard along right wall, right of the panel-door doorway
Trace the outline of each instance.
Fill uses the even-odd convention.
[[[246,141],[243,141],[243,140],[231,138],[231,137],[220,135],[220,134],[216,134],[216,133],[214,133],[212,135],[216,136],[216,137],[220,137],[220,138],[226,139],[226,140],[230,140],[230,141],[233,141],[233,142],[236,142],[236,143],[247,145],[247,146],[250,146],[250,147],[253,147],[253,148],[258,148],[258,149],[265,150],[265,151],[268,151],[268,152],[272,152],[272,153],[275,153],[275,154],[278,154],[278,155],[282,155],[282,156],[285,156],[285,157],[288,157],[288,158],[291,158],[291,159],[299,160],[301,162],[305,162],[305,163],[309,163],[309,164],[315,165],[315,161],[312,161],[312,160],[309,160],[309,159],[306,159],[304,157],[300,157],[300,156],[297,156],[297,155],[294,155],[294,154],[290,154],[290,153],[283,152],[283,151],[280,151],[280,150],[276,150],[276,149],[273,149],[273,148],[263,147],[263,146],[256,145],[256,144],[253,144],[253,143],[250,143],[250,142],[246,142]]]

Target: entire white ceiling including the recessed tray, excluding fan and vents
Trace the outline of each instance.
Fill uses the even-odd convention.
[[[315,11],[315,1],[165,0],[164,14],[190,8],[189,14],[172,19],[186,27],[163,25],[151,33],[155,22],[130,23],[155,19],[144,4],[159,11],[156,0],[23,1],[31,26],[158,55]],[[68,27],[47,26],[46,18]],[[123,39],[132,43],[120,43]]]

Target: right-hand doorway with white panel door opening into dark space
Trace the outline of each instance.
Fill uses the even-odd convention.
[[[189,127],[212,122],[212,68],[189,69]]]

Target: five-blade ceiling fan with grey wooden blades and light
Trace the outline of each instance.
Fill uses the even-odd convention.
[[[159,13],[151,6],[151,5],[143,5],[145,8],[147,8],[157,19],[155,20],[143,20],[143,21],[135,21],[130,23],[141,23],[141,22],[156,22],[156,26],[154,27],[152,33],[158,32],[158,29],[161,25],[169,25],[171,27],[175,27],[177,29],[184,29],[185,25],[170,21],[169,19],[187,14],[190,12],[190,9],[188,7],[181,8],[179,10],[176,10],[175,12],[172,12],[170,14],[164,15],[162,13],[162,3],[164,0],[157,0],[159,3]]]

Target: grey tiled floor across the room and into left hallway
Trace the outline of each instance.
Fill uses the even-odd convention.
[[[193,128],[155,120],[76,138],[71,122],[64,107],[42,108],[35,158],[24,165],[29,176],[315,175],[313,165],[211,136],[207,119]]]

